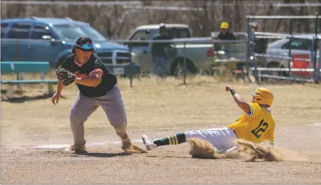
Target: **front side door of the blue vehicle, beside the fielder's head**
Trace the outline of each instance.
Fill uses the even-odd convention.
[[[37,52],[33,55],[32,61],[48,61],[53,62],[56,56],[66,49],[62,40],[51,31],[49,26],[43,24],[35,24],[31,30],[32,45],[28,46],[30,52]]]

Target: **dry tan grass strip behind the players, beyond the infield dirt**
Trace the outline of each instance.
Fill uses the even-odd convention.
[[[134,79],[133,88],[129,79],[120,79],[119,86],[127,111],[130,130],[202,128],[212,124],[229,124],[236,120],[241,111],[231,95],[225,92],[227,83],[209,77],[195,77],[182,85],[182,80],[168,78]],[[257,85],[253,83],[233,83],[236,91],[247,101],[252,99]],[[267,85],[275,95],[272,112],[277,125],[313,124],[320,122],[321,88],[313,84],[306,85]],[[38,92],[37,88],[42,88]],[[69,133],[69,108],[72,106],[76,86],[63,90],[63,98],[53,106],[50,98],[32,99],[47,92],[47,86],[35,85],[23,87],[28,96],[24,102],[2,102],[2,129],[4,140],[10,131],[23,135],[63,132]],[[19,95],[17,95],[19,97]],[[31,116],[32,115],[32,116]],[[304,119],[302,119],[304,118]],[[15,124],[13,124],[13,122]],[[99,108],[85,124],[86,132],[113,131],[106,115]]]

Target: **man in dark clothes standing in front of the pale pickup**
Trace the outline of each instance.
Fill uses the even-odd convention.
[[[153,40],[171,40],[172,37],[167,35],[166,26],[160,24],[159,33],[156,34]],[[151,72],[155,75],[158,74],[158,67],[161,67],[161,77],[167,77],[167,54],[165,51],[166,47],[170,47],[170,42],[168,43],[153,43],[151,46],[151,55],[153,56],[153,61],[151,62]]]

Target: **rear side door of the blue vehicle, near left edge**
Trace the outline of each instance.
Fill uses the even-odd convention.
[[[8,40],[3,42],[3,50],[8,56],[8,61],[28,61],[30,54],[28,52],[28,36],[31,29],[31,23],[15,22],[8,28]],[[2,43],[1,43],[2,45]],[[2,46],[1,46],[2,49]]]

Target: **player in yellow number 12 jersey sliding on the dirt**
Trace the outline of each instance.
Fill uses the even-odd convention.
[[[272,113],[268,110],[273,102],[271,91],[267,88],[258,88],[255,93],[251,93],[253,95],[252,103],[247,103],[232,86],[228,85],[226,90],[231,93],[238,107],[244,111],[236,122],[224,128],[186,131],[158,140],[143,134],[142,142],[146,145],[147,150],[153,150],[162,145],[178,145],[185,143],[190,138],[207,140],[217,149],[217,152],[233,150],[237,147],[233,140],[238,138],[253,143],[268,140],[273,144],[275,122]]]

